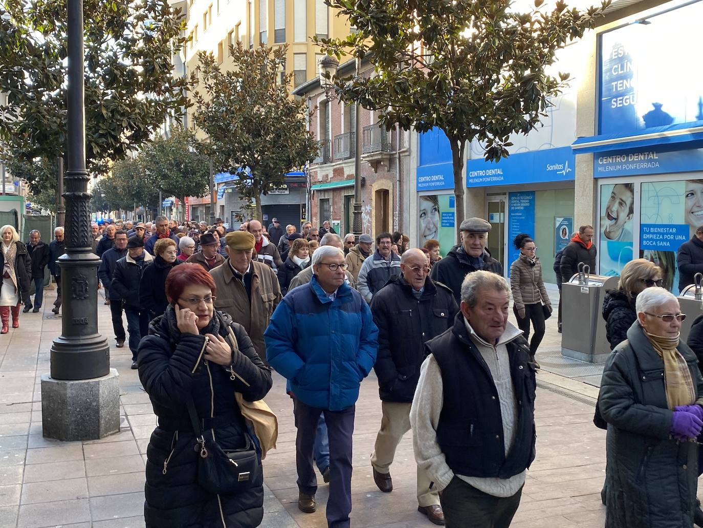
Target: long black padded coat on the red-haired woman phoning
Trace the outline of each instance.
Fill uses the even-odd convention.
[[[197,482],[200,455],[195,451],[186,396],[193,395],[201,418],[214,417],[214,436],[220,446],[234,449],[245,446],[247,432],[234,392],[247,401],[257,401],[271,389],[271,370],[257,356],[243,327],[225,313],[219,315],[224,325],[215,318],[202,334],[226,337],[227,326],[231,327],[239,345],[232,367],[248,386],[239,379],[231,380],[221,365],[202,360],[205,337],[181,334],[171,306],[151,322],[148,337],[139,344],[139,379],[159,423],[146,452],[144,519],[148,528],[250,528],[262,522],[263,481],[243,493],[220,496]]]

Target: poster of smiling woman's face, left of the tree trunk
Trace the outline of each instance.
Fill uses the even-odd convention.
[[[439,241],[439,253],[446,256],[456,244],[456,220],[453,194],[429,194],[418,199],[418,222],[423,247],[427,240]]]

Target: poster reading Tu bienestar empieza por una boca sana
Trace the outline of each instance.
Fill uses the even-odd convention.
[[[703,225],[703,180],[642,184],[640,257],[662,268],[664,287],[678,294],[676,252]]]

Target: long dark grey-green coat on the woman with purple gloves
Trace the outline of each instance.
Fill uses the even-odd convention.
[[[664,362],[636,322],[605,364],[598,408],[608,423],[606,528],[693,526],[698,446],[670,438],[673,413],[666,407]],[[696,396],[703,377],[685,343]]]

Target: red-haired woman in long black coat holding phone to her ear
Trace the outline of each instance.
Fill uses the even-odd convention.
[[[259,526],[264,515],[262,468],[232,494],[215,494],[198,481],[201,457],[188,405],[198,415],[201,439],[224,451],[250,446],[234,393],[257,401],[271,389],[269,370],[247,333],[226,313],[215,312],[215,284],[202,266],[176,266],[166,279],[169,306],[151,322],[139,346],[139,379],[158,417],[147,448],[149,528]],[[254,439],[255,441],[255,439]]]

